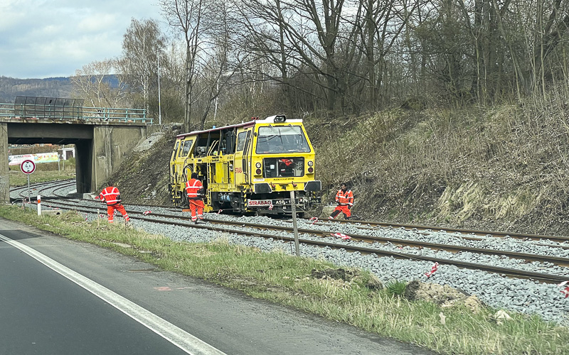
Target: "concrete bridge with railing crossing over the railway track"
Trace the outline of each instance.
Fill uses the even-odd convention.
[[[0,104],[0,201],[9,201],[9,144],[75,144],[79,194],[94,192],[147,138],[144,109],[83,107],[83,100],[17,97]]]

